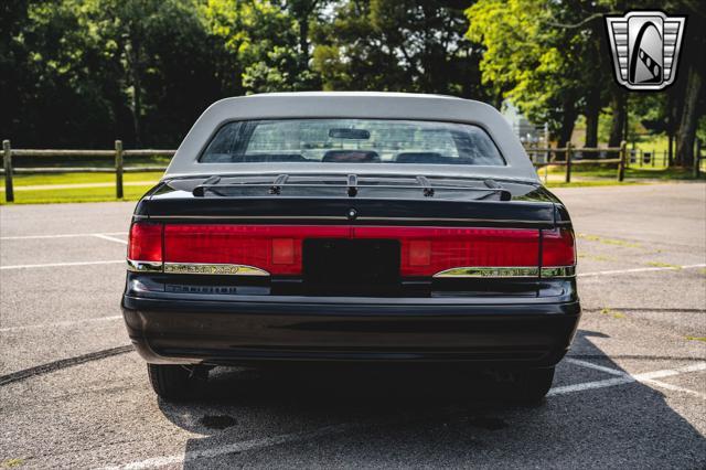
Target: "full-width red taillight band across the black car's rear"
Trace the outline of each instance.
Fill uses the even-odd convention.
[[[478,271],[473,276],[481,271],[500,277],[538,276],[541,267],[576,264],[570,229],[545,229],[542,237],[539,234],[541,231],[532,228],[161,225],[138,222],[130,228],[128,258],[163,261],[172,264],[172,267],[175,264],[238,265],[240,268],[257,268],[265,271],[263,274],[301,275],[302,245],[307,238],[379,238],[399,242],[399,274],[403,277],[430,277],[456,268],[471,269],[461,269],[453,276],[468,276],[471,271]],[[164,265],[165,270],[168,267]],[[515,273],[492,268],[520,269]],[[191,268],[183,269],[188,273]],[[216,271],[208,267],[203,273]],[[250,271],[242,269],[240,273]]]

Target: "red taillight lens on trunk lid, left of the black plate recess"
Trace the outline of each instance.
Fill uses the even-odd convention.
[[[276,275],[301,274],[304,238],[347,238],[345,226],[167,225],[164,263],[253,266]]]

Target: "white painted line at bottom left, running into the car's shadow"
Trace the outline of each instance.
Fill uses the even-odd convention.
[[[307,432],[285,434],[272,437],[264,437],[259,439],[243,440],[239,442],[227,444],[225,446],[212,447],[203,450],[190,450],[185,453],[174,453],[172,456],[154,457],[147,460],[140,460],[122,466],[104,467],[104,470],[137,470],[151,469],[165,466],[175,466],[193,462],[199,459],[213,459],[214,457],[225,456],[226,453],[237,453],[246,450],[264,449],[280,444],[293,442],[298,440],[314,439],[317,437],[331,436],[352,428],[351,425],[325,426]]]

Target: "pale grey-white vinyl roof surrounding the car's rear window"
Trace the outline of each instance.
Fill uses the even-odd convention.
[[[417,163],[256,162],[200,163],[199,157],[225,122],[250,119],[367,118],[473,124],[491,136],[506,165]],[[174,154],[164,179],[213,174],[332,173],[443,175],[538,182],[524,148],[502,115],[484,103],[439,95],[372,92],[271,93],[225,98],[211,105]]]

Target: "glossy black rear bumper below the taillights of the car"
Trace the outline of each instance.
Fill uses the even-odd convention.
[[[122,311],[132,343],[151,363],[550,366],[570,345],[580,306],[538,300],[126,295]]]

